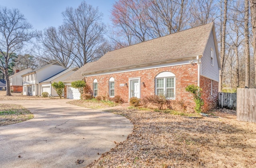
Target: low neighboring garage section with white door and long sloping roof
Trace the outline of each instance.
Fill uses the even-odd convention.
[[[48,94],[50,96],[58,96],[57,92],[52,87],[52,83],[65,80],[70,75],[72,75],[74,72],[76,72],[76,70],[78,70],[78,67],[69,68],[69,69],[63,70],[62,72],[60,72],[54,76],[51,76],[50,78],[40,82],[41,93],[48,92]]]

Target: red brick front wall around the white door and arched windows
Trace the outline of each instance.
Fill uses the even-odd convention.
[[[185,91],[185,88],[189,84],[197,85],[197,73],[198,66],[196,64],[186,64],[178,66],[170,66],[164,68],[154,68],[148,70],[138,70],[132,72],[122,72],[116,74],[106,74],[98,76],[86,77],[86,83],[90,87],[89,90],[92,91],[93,80],[98,81],[98,96],[109,95],[109,79],[111,77],[115,80],[115,95],[120,95],[126,102],[129,99],[129,90],[126,86],[119,86],[120,84],[129,84],[129,78],[140,78],[141,82],[141,98],[144,96],[150,96],[155,94],[155,77],[160,72],[172,72],[176,78],[176,100],[185,100],[186,102],[194,102],[193,96]],[[142,82],[145,83],[143,86]]]

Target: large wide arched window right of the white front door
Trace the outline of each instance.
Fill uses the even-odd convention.
[[[175,75],[172,72],[161,72],[155,80],[156,95],[164,94],[167,99],[175,99]]]

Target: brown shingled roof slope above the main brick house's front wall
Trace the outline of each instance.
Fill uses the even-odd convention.
[[[128,69],[202,55],[214,23],[208,23],[142,43],[110,51],[82,74]]]

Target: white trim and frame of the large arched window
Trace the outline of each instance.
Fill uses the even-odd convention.
[[[157,95],[157,79],[164,79],[164,95],[166,95],[166,78],[174,78],[174,98],[166,98],[168,100],[176,99],[176,76],[172,72],[160,72],[155,78],[155,95]]]

